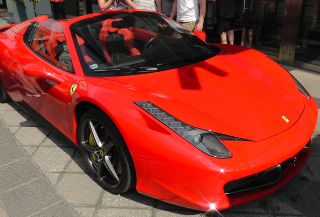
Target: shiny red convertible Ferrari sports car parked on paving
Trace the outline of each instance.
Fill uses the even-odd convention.
[[[1,101],[82,149],[107,191],[245,203],[303,167],[317,106],[264,54],[204,38],[149,11],[36,17],[1,29]]]

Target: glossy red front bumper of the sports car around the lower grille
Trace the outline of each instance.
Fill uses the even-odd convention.
[[[305,97],[305,109],[289,129],[263,141],[224,141],[233,157],[216,159],[186,142],[182,137],[153,120],[144,111],[128,110],[119,127],[132,156],[138,192],[172,204],[208,211],[221,210],[269,195],[283,186],[306,163],[308,144],[317,121],[314,100]],[[126,102],[123,102],[126,107]],[[127,106],[128,107],[128,106]],[[114,108],[116,109],[116,108]],[[226,194],[224,186],[284,164],[274,183]]]

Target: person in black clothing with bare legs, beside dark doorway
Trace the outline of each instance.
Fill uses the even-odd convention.
[[[221,44],[233,44],[234,34],[233,25],[237,13],[235,0],[213,0],[217,7],[217,24],[215,32],[220,35]]]

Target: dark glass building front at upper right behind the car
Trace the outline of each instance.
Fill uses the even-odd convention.
[[[320,72],[319,0],[238,0],[235,43],[278,63]],[[215,3],[207,4],[207,41],[214,35]]]

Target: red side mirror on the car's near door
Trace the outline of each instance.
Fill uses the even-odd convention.
[[[23,67],[23,71],[28,76],[52,80],[58,84],[64,81],[61,77],[53,73],[43,62],[29,63]]]

